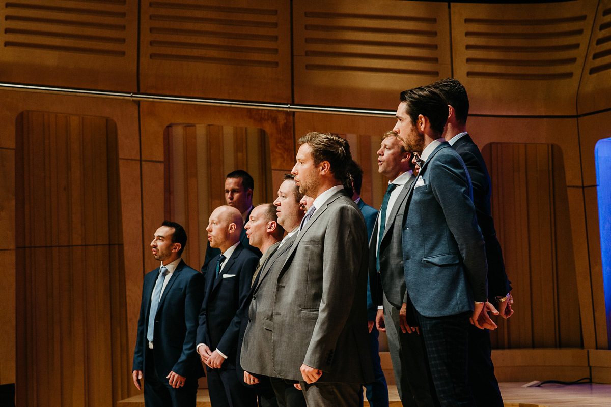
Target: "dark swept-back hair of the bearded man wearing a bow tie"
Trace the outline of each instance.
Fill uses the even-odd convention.
[[[441,135],[445,122],[448,121],[448,104],[441,93],[430,86],[422,86],[401,92],[401,102],[406,102],[405,111],[412,119],[418,121],[418,116],[428,118],[431,129]]]

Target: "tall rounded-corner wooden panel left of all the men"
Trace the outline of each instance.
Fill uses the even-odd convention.
[[[117,126],[16,122],[17,405],[112,406],[130,385]]]

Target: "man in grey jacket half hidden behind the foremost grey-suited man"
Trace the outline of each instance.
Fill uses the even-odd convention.
[[[271,246],[266,251],[269,255],[260,263],[257,278],[252,286],[252,301],[247,308],[249,323],[244,333],[243,356],[240,360],[248,372],[273,372],[272,366],[264,366],[265,363],[271,362],[268,355],[272,332],[268,329],[268,321],[273,320],[278,273],[286,260],[288,249],[297,237],[299,224],[305,215],[299,205],[302,197],[295,182],[295,175],[285,174],[274,205],[276,205],[278,224],[287,230],[288,234],[277,246]],[[266,253],[263,255],[265,256]],[[305,407],[302,392],[296,389],[292,382],[277,377],[244,374],[246,383],[258,383],[260,380],[265,381],[265,378],[271,381],[279,405]]]

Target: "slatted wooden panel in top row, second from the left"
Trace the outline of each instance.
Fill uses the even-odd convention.
[[[290,102],[290,2],[141,2],[141,91]]]

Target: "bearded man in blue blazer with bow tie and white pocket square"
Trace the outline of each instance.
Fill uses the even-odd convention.
[[[467,381],[469,322],[487,299],[486,251],[463,160],[442,138],[448,106],[431,87],[401,93],[393,129],[423,164],[403,223],[406,288],[442,406],[474,406]]]

